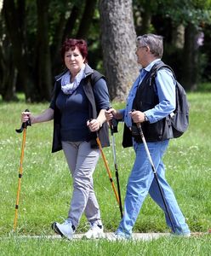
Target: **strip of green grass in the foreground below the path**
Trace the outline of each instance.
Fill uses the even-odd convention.
[[[210,237],[159,238],[153,241],[66,241],[23,239],[13,237],[0,239],[1,256],[208,256],[210,255]]]

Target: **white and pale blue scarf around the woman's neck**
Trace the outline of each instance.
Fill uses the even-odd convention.
[[[61,90],[65,94],[72,94],[75,90],[77,90],[78,85],[81,83],[81,80],[85,77],[85,64],[83,64],[83,67],[77,73],[77,76],[75,77],[74,81],[71,83],[71,73],[70,71],[67,71],[62,77],[61,77]]]

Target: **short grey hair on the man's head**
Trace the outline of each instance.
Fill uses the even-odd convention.
[[[154,34],[145,34],[136,38],[137,47],[148,46],[151,49],[151,54],[162,58],[163,56],[163,37]]]

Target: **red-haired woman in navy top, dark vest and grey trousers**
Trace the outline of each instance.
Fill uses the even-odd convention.
[[[94,194],[93,173],[100,156],[97,133],[102,146],[109,146],[105,111],[110,106],[105,78],[88,66],[88,47],[84,40],[66,39],[61,48],[66,71],[56,77],[54,96],[43,113],[22,113],[22,122],[31,124],[54,119],[52,152],[63,149],[73,178],[73,195],[68,217],[54,222],[53,230],[71,240],[83,212],[90,230],[87,238],[103,236],[100,208]]]

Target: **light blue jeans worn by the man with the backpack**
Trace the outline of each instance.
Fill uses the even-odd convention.
[[[185,223],[185,218],[180,211],[180,207],[175,199],[174,192],[165,178],[165,167],[162,157],[168,148],[168,140],[156,143],[147,143],[151,159],[157,170],[158,181],[163,189],[163,195],[167,203],[168,212],[174,225],[176,234],[188,234],[190,230]],[[152,172],[151,163],[145,153],[143,143],[134,143],[136,158],[134,167],[128,177],[127,192],[124,201],[124,214],[117,233],[123,233],[125,236],[131,236],[136,218],[139,215],[140,208],[149,193],[151,198],[163,209],[168,227],[172,229],[168,214],[163,204],[162,195],[157,186],[157,180]]]

